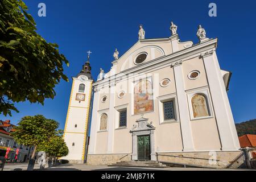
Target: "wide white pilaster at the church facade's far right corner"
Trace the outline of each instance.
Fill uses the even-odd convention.
[[[220,134],[221,150],[238,150],[240,143],[217,55],[215,51],[210,51],[201,56],[204,60],[210,94],[212,96],[218,132]]]

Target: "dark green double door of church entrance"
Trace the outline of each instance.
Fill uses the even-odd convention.
[[[150,160],[150,135],[138,136],[138,160]]]

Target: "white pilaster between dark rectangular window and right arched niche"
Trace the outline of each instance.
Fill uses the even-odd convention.
[[[179,106],[180,129],[183,142],[183,151],[194,151],[191,123],[188,111],[187,94],[184,88],[182,62],[174,64],[174,77],[177,90],[177,102]]]

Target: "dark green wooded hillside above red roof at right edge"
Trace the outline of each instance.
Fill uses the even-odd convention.
[[[236,124],[238,137],[245,134],[256,135],[256,119]]]

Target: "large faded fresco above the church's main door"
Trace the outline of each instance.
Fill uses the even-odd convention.
[[[153,110],[152,84],[148,80],[140,80],[134,87],[134,114]]]

